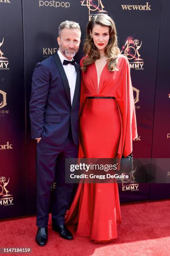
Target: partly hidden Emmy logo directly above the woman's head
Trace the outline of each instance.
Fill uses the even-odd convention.
[[[90,15],[90,11],[94,12],[100,12],[100,13],[107,13],[104,9],[104,5],[102,3],[102,0],[83,0],[81,1],[82,6],[86,6],[89,9],[89,20],[91,20],[92,15]]]

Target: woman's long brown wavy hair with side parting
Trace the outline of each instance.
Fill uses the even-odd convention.
[[[117,46],[117,31],[115,23],[107,14],[97,14],[87,24],[86,38],[83,48],[87,58],[83,60],[83,67],[81,67],[81,69],[83,72],[86,72],[87,66],[94,63],[96,59],[100,58],[100,53],[94,44],[93,38],[90,36],[90,31],[92,31],[95,24],[109,26],[109,42],[105,47],[104,52],[107,56],[108,69],[109,71],[113,72],[117,70],[117,58],[120,50]]]

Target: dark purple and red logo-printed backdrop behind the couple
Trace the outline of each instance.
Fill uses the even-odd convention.
[[[129,59],[138,129],[134,158],[150,159],[142,174],[147,169],[167,179],[119,183],[120,201],[170,198],[170,170],[161,166],[170,158],[169,10],[168,0],[0,0],[0,218],[36,213],[36,141],[28,114],[33,70],[58,50],[64,20],[81,26],[79,62],[86,24],[97,13],[114,19],[121,54]],[[55,187],[54,181],[52,200]]]

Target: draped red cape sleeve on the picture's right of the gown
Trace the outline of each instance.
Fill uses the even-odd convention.
[[[137,138],[137,123],[130,77],[130,65],[125,56],[121,69],[121,84],[118,88],[116,100],[122,129],[117,157],[126,157],[132,152],[132,140]]]

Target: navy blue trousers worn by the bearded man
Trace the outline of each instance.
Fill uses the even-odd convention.
[[[48,226],[51,185],[56,176],[55,201],[52,223],[64,224],[64,216],[70,204],[73,184],[65,183],[65,158],[77,158],[78,146],[74,144],[71,131],[64,143],[52,145],[41,139],[37,144],[37,226]],[[56,164],[60,158],[59,165]],[[56,175],[55,175],[56,172]],[[68,170],[69,172],[69,170]]]

